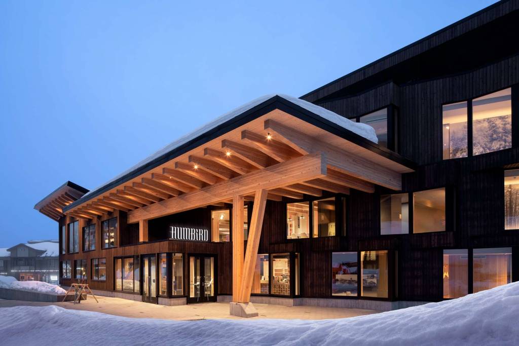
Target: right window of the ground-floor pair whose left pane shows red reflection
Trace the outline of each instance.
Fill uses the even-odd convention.
[[[388,252],[361,252],[361,296],[388,298]]]

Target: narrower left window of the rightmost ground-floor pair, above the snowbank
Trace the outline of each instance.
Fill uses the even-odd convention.
[[[469,293],[469,255],[465,250],[443,251],[443,298]]]

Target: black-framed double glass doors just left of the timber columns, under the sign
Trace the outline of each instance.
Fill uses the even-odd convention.
[[[189,256],[188,303],[216,301],[216,278],[214,256]]]

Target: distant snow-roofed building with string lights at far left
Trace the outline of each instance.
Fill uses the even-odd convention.
[[[30,240],[9,248],[0,248],[0,275],[18,281],[43,281],[57,284],[59,241]]]

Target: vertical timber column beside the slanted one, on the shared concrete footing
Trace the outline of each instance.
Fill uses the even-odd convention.
[[[238,302],[243,274],[243,196],[233,197],[233,301]]]

